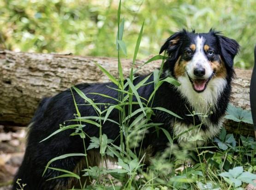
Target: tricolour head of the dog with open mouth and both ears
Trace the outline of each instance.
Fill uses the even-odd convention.
[[[232,78],[233,59],[238,49],[235,40],[212,29],[199,34],[182,30],[167,39],[160,54],[166,50],[168,55],[165,72],[171,72],[178,79],[188,78],[193,89],[200,93],[213,78]]]

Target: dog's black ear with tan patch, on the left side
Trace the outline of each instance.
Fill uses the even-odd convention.
[[[182,45],[182,42],[186,33],[187,33],[186,30],[183,29],[182,31],[176,32],[172,36],[170,36],[166,40],[165,44],[162,45],[159,54],[161,54],[164,50],[166,50],[168,56],[175,59],[175,57],[177,57],[179,54],[179,49]]]

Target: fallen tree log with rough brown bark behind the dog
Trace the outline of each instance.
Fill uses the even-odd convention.
[[[136,67],[145,61],[137,60]],[[117,76],[116,58],[0,51],[0,123],[25,126],[42,97],[55,95],[73,84],[109,81],[95,62]],[[122,59],[121,62],[123,73],[128,76],[132,61]],[[152,72],[160,64],[161,61],[151,62],[139,73]],[[231,102],[249,110],[251,71],[236,69],[236,73]],[[238,126],[228,123],[227,129],[232,132]],[[253,134],[251,125],[241,126],[239,134]]]

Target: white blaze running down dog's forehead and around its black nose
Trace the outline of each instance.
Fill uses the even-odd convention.
[[[204,43],[205,39],[198,35],[196,37],[196,51],[193,55],[193,58],[186,66],[186,71],[192,79],[196,78],[194,75],[194,69],[196,67],[202,67],[205,69],[205,75],[203,76],[205,79],[209,78],[213,73],[213,70],[203,49]]]

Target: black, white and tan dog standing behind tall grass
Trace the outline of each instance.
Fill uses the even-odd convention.
[[[173,77],[181,85],[175,86],[163,82],[157,89],[152,107],[162,107],[182,117],[174,117],[167,112],[155,110],[151,117],[154,123],[163,123],[161,128],[167,130],[179,145],[188,144],[196,139],[196,145],[202,145],[212,139],[222,127],[223,117],[228,105],[231,93],[231,81],[235,75],[233,60],[237,55],[239,45],[234,39],[229,39],[219,32],[211,29],[208,33],[188,32],[185,29],[170,36],[162,45],[160,54],[166,52],[167,60],[164,63],[161,78]],[[137,76],[133,80],[134,85],[142,81],[146,76]],[[150,75],[147,85],[137,89],[138,94],[148,100],[154,91],[154,76]],[[118,99],[118,88],[114,83],[78,84],[80,89],[95,103],[117,102],[108,97],[97,94],[101,93]],[[83,98],[73,92],[77,105],[84,104]],[[95,116],[96,112],[92,106],[78,106],[81,116]],[[134,110],[138,106],[132,107]],[[75,181],[71,178],[57,178],[63,174],[60,171],[47,169],[42,173],[48,161],[52,158],[68,154],[84,152],[83,141],[78,135],[71,136],[72,129],[65,130],[51,138],[40,142],[54,131],[60,129],[60,123],[74,118],[76,109],[70,89],[61,92],[54,97],[44,99],[32,118],[28,133],[27,147],[24,160],[14,179],[13,190],[18,188],[15,183],[22,179],[27,184],[26,190],[62,190],[72,188]],[[196,114],[200,113],[200,114]],[[193,115],[193,117],[191,117]],[[109,118],[119,121],[119,111],[113,109]],[[131,120],[132,121],[132,120]],[[71,121],[65,122],[72,124]],[[193,126],[199,128],[189,130]],[[86,123],[83,131],[90,137],[99,137],[99,128]],[[183,133],[183,134],[182,134]],[[102,125],[102,134],[112,139],[113,144],[120,143],[119,125],[106,121]],[[181,134],[181,135],[179,135]],[[85,138],[88,147],[89,138]],[[150,128],[143,138],[143,148],[150,147],[151,155],[165,150],[168,139],[161,130],[156,132]],[[52,163],[52,167],[68,171],[76,171],[78,174],[82,168],[97,166],[100,162],[99,150],[87,152],[89,164],[81,164],[81,156],[67,157]]]

